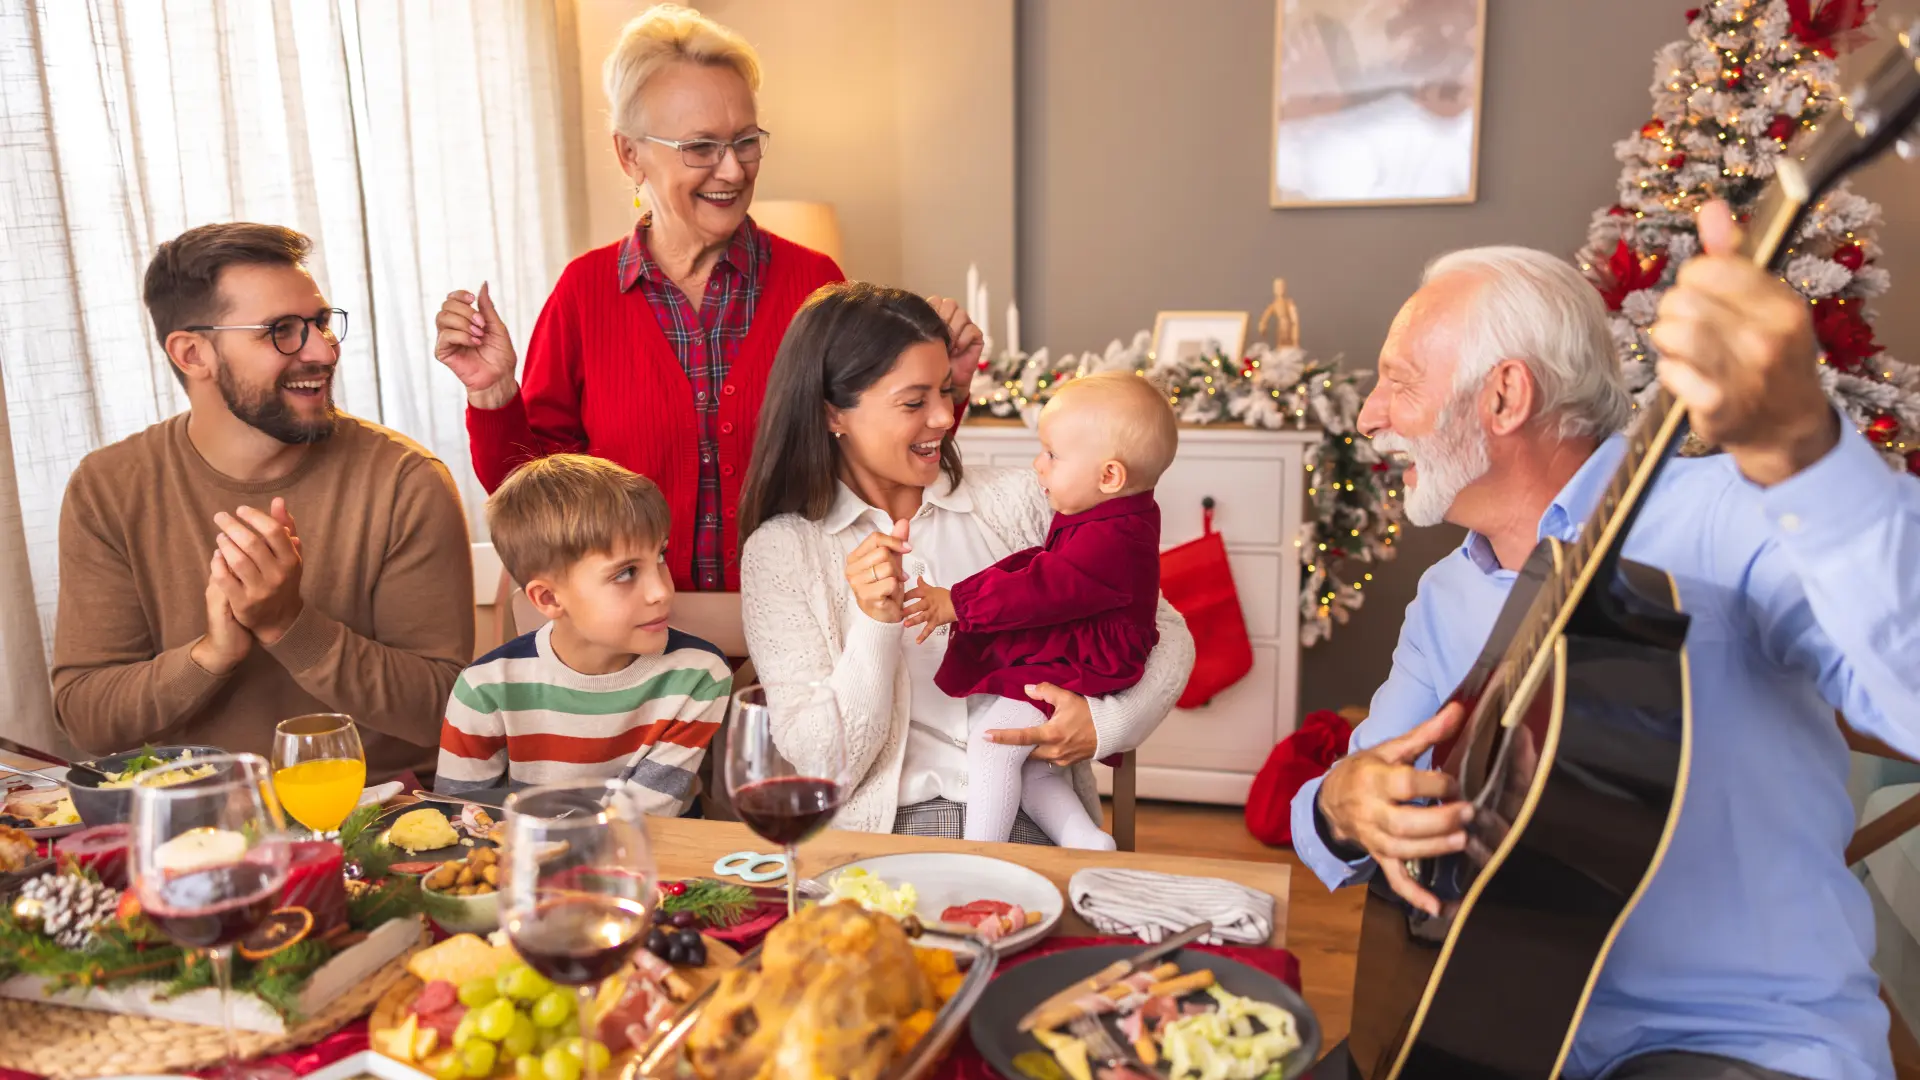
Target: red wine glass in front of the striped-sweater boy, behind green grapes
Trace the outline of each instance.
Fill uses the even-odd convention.
[[[655,890],[647,815],[624,780],[507,796],[501,924],[528,967],[580,994],[580,1070],[593,1076],[593,992],[647,940]]]

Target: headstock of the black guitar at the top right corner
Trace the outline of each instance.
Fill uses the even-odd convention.
[[[1920,156],[1920,23],[1897,35],[1897,48],[1839,113],[1824,117],[1795,150],[1797,158],[1780,158],[1747,221],[1743,250],[1761,265],[1774,267],[1807,209],[1847,173],[1887,150]]]

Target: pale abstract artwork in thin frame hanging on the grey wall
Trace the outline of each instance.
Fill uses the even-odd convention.
[[[1271,204],[1473,202],[1486,0],[1275,0]]]

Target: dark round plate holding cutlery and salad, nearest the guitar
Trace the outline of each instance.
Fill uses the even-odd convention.
[[[1046,1047],[1041,1045],[1041,1040],[1033,1038],[1033,1034],[1020,1030],[1020,1019],[1025,1017],[1035,1005],[1046,1001],[1068,986],[1073,986],[1114,961],[1139,955],[1139,951],[1140,945],[1089,945],[1085,949],[1066,949],[1020,965],[1002,978],[996,978],[979,999],[979,1005],[973,1007],[973,1019],[970,1020],[973,1047],[979,1049],[981,1057],[985,1057],[1000,1076],[1021,1080],[1020,1070],[1014,1068],[1014,1055],[1027,1051],[1046,1053]],[[1300,1047],[1281,1059],[1283,1076],[1300,1076],[1313,1065],[1313,1061],[1319,1059],[1319,1020],[1313,1017],[1313,1009],[1308,1009],[1308,1003],[1300,999],[1300,994],[1296,994],[1292,986],[1286,986],[1260,969],[1246,967],[1240,961],[1196,949],[1181,949],[1160,963],[1169,961],[1181,965],[1183,972],[1208,969],[1213,972],[1213,980],[1219,982],[1221,990],[1227,994],[1238,994],[1240,997],[1252,997],[1254,1001],[1267,1001],[1294,1015],[1294,1026],[1300,1032]],[[1212,1001],[1212,997],[1208,997],[1206,992],[1200,992],[1188,994],[1183,1001]],[[1114,1034],[1114,1042],[1125,1047],[1127,1040],[1119,1036],[1114,1017],[1102,1017],[1102,1022],[1108,1032]],[[1064,1028],[1062,1034],[1066,1034]]]

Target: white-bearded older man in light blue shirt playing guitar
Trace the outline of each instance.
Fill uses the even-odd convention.
[[[1651,334],[1659,375],[1726,454],[1672,461],[1624,555],[1678,584],[1693,746],[1667,855],[1620,924],[1569,1076],[1891,1078],[1874,917],[1853,832],[1847,721],[1920,753],[1920,484],[1826,400],[1807,302],[1728,252],[1682,267]],[[1459,851],[1473,807],[1432,769],[1446,698],[1534,546],[1572,540],[1626,446],[1607,315],[1561,259],[1478,248],[1434,261],[1394,319],[1359,415],[1411,459],[1407,515],[1467,542],[1407,607],[1352,751],[1294,798],[1302,861],[1329,888],[1375,872],[1438,901],[1405,859]]]

